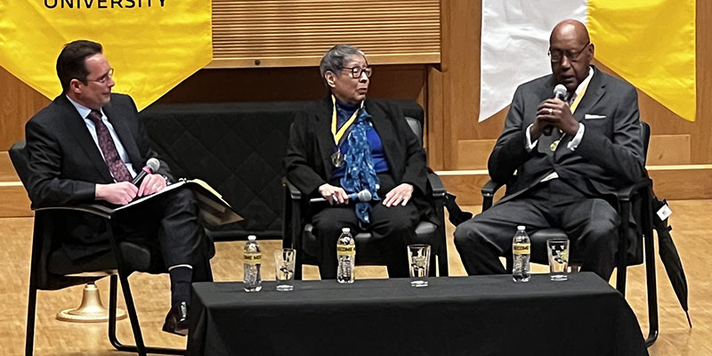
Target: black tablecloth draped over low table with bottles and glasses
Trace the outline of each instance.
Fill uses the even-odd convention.
[[[190,355],[647,355],[635,314],[593,273],[193,284]]]

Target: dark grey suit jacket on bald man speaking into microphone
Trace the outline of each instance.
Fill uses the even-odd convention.
[[[563,137],[555,152],[550,143],[559,135],[542,135],[538,145],[526,150],[526,130],[536,120],[541,101],[551,98],[556,82],[553,75],[520,85],[514,93],[505,128],[499,136],[488,167],[498,182],[508,182],[517,171],[507,198],[514,198],[541,181],[552,171],[589,197],[601,198],[644,176],[643,143],[635,88],[598,69],[578,104],[574,117],[586,127],[576,150]],[[586,115],[598,118],[587,119]]]

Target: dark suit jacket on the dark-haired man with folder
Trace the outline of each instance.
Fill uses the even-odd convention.
[[[136,169],[145,166],[148,158],[158,157],[150,148],[131,97],[111,94],[111,101],[102,109]],[[33,207],[93,203],[94,185],[114,182],[84,118],[64,94],[29,119],[25,136],[31,172],[27,188]],[[173,179],[165,162],[161,161],[158,171]],[[66,214],[61,223],[69,233],[61,245],[70,258],[109,251],[102,219]]]

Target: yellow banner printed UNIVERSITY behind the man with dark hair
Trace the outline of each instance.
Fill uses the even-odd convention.
[[[209,0],[2,0],[0,66],[53,99],[64,44],[104,46],[114,91],[139,109],[213,59]]]

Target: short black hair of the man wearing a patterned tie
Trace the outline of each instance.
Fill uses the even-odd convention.
[[[57,77],[60,77],[62,93],[67,93],[72,79],[78,79],[86,84],[86,59],[96,53],[102,53],[101,44],[87,40],[77,40],[64,45],[57,57]]]

